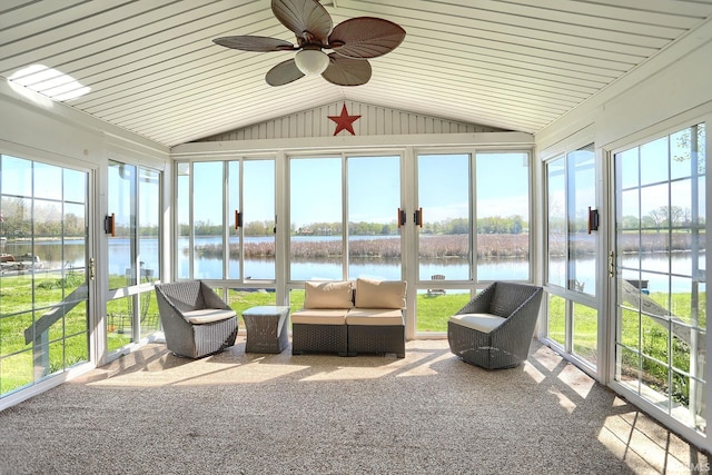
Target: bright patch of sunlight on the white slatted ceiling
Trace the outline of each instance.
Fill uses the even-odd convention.
[[[10,76],[8,81],[60,101],[76,99],[91,90],[71,76],[44,65],[32,65],[20,69]]]

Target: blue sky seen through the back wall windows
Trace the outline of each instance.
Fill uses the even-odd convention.
[[[418,159],[418,207],[427,221],[467,218],[469,206],[469,155],[424,155]],[[479,154],[476,158],[476,202],[478,217],[520,215],[528,219],[527,155]],[[290,160],[290,221],[297,228],[312,222],[342,219],[345,186],[340,157]],[[222,166],[197,164],[194,170],[196,220],[219,222],[222,216]],[[246,160],[239,206],[246,220],[271,220],[275,209],[273,160]],[[348,214],[350,221],[392,222],[402,206],[400,157],[349,157]],[[231,168],[233,175],[237,167]],[[236,182],[231,177],[230,182]],[[237,206],[230,190],[229,219]],[[412,212],[408,210],[408,212]],[[181,218],[182,220],[182,218]]]

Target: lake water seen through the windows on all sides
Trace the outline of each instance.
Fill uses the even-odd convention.
[[[380,236],[378,238],[382,238]],[[249,239],[249,238],[248,238]],[[254,238],[254,240],[265,240],[269,238]],[[299,239],[323,240],[325,237],[299,237]],[[326,239],[329,239],[326,237]],[[332,239],[338,239],[333,237]],[[373,239],[373,237],[364,237],[364,239]],[[196,245],[216,244],[216,238],[198,238]],[[186,247],[186,241],[179,243],[179,246]],[[12,254],[14,256],[26,255],[32,251],[30,243],[7,243],[2,253]],[[156,239],[142,239],[141,250],[144,255],[141,260],[145,263],[146,269],[158,269],[158,243]],[[37,241],[34,253],[40,257],[46,267],[82,267],[85,261],[85,244],[80,239],[67,240],[63,246],[57,241]],[[113,275],[125,275],[126,269],[130,268],[130,249],[128,239],[112,238],[109,241],[109,271]],[[704,253],[701,254],[699,266],[704,269]],[[180,275],[187,275],[187,259],[180,260]],[[576,279],[583,284],[586,289],[595,287],[595,260],[581,259],[576,261]],[[623,259],[624,267],[635,268],[637,266],[636,257],[626,257]],[[194,263],[196,278],[219,279],[222,276],[222,260],[207,257],[199,257]],[[565,275],[565,261],[563,259],[550,263],[554,276]],[[669,269],[670,266],[670,269]],[[237,260],[230,263],[230,278],[238,278]],[[528,278],[528,261],[524,259],[488,259],[482,260],[477,266],[478,280],[526,280]],[[686,253],[680,253],[668,259],[665,255],[646,255],[643,258],[642,268],[646,273],[643,279],[650,280],[651,290],[655,288],[666,289],[666,274],[689,275],[691,268],[691,256]],[[444,274],[448,280],[467,280],[469,278],[469,269],[464,259],[429,259],[419,264],[421,276],[423,280],[427,280],[434,274]],[[291,263],[293,280],[310,280],[310,279],[340,279],[342,264],[340,259],[322,259],[318,261],[299,261]],[[274,278],[274,261],[269,259],[246,259],[245,275],[255,279]],[[350,263],[350,276],[372,277],[380,279],[400,279],[400,265],[397,261],[384,263],[376,259],[355,259]],[[157,276],[157,275],[156,275]],[[633,278],[632,276],[627,276]],[[555,278],[554,278],[555,280]],[[682,291],[688,289],[689,279],[673,278],[673,291]],[[563,281],[555,283],[564,285]]]

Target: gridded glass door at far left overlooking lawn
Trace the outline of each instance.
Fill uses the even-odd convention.
[[[0,398],[89,362],[89,174],[0,155]]]

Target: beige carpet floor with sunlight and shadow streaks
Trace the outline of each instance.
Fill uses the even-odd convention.
[[[0,474],[690,473],[706,455],[546,347],[189,360],[149,345],[0,413]]]

